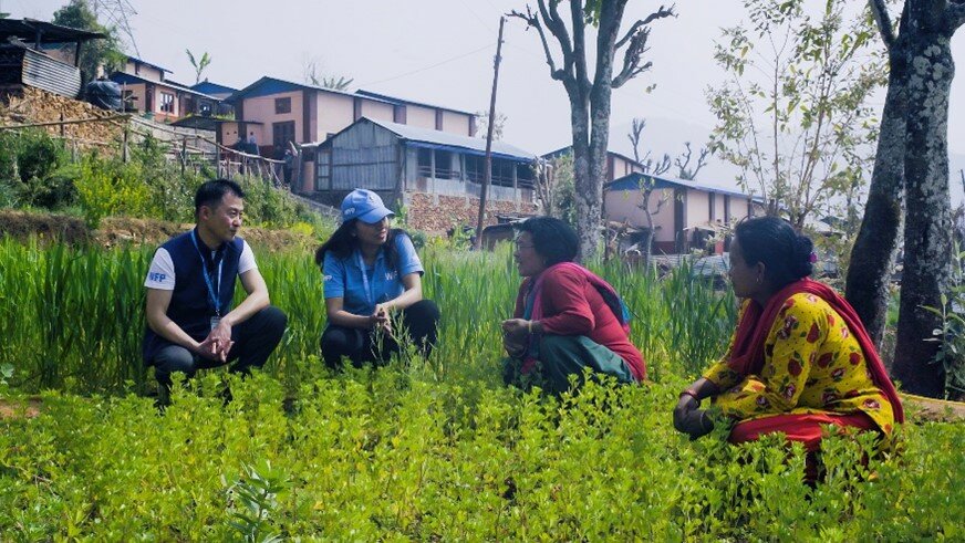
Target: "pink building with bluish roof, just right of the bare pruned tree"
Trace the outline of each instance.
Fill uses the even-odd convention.
[[[603,186],[606,220],[645,230],[644,187],[652,187],[653,251],[684,253],[707,249],[707,241],[733,220],[761,215],[758,198],[709,185],[634,173]],[[716,243],[715,253],[728,249],[729,239]]]

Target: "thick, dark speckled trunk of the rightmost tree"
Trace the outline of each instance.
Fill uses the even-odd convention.
[[[941,397],[944,368],[932,363],[941,343],[925,340],[942,322],[924,306],[941,306],[951,274],[948,94],[955,65],[948,36],[925,29],[916,34],[910,41],[905,260],[893,374],[910,393]]]

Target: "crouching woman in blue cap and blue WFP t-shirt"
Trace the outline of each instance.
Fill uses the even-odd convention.
[[[425,356],[436,342],[439,310],[423,299],[422,262],[408,234],[391,228],[393,215],[378,195],[355,189],[342,200],[342,226],[315,252],[329,317],[322,358],[333,369],[343,356],[355,366],[387,361],[404,332]]]

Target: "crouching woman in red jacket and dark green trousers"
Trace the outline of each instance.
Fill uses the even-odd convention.
[[[571,375],[579,383],[588,367],[620,383],[646,378],[620,296],[573,262],[579,250],[573,229],[559,219],[533,217],[517,231],[512,255],[526,279],[513,317],[502,322],[507,384],[536,383],[560,394],[570,387]]]

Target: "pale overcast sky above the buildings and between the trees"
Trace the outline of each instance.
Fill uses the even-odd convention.
[[[0,0],[0,10],[12,18],[49,20],[64,3]],[[137,11],[129,22],[141,58],[172,70],[170,79],[181,83],[194,83],[195,77],[185,49],[207,51],[212,62],[205,75],[236,88],[262,75],[302,82],[305,60],[315,59],[323,72],[353,77],[353,88],[473,112],[488,108],[499,15],[525,7],[523,0],[129,3]],[[624,21],[657,7],[633,0]],[[657,153],[676,154],[685,140],[706,142],[714,117],[704,91],[724,80],[713,62],[714,41],[720,27],[744,18],[741,10],[735,0],[679,0],[676,19],[653,24],[646,53],[653,69],[613,93],[612,149],[631,154],[625,134],[633,117],[647,119],[644,147]],[[505,40],[497,98],[497,109],[508,117],[504,139],[537,154],[568,145],[569,102],[562,85],[549,77],[538,36],[525,32],[522,21],[510,19]],[[965,30],[952,48],[955,60],[965,62]],[[647,94],[652,84],[656,88]],[[961,74],[953,83],[951,104],[948,144],[957,171],[965,167]],[[727,186],[733,185],[733,168],[715,161],[699,179]]]

